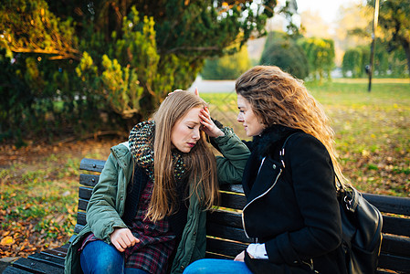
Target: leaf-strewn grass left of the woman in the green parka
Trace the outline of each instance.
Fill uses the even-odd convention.
[[[26,257],[68,242],[76,224],[79,161],[105,159],[120,139],[0,145],[0,257]],[[123,142],[123,141],[121,141]]]

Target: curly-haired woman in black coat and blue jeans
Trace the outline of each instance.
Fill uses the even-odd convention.
[[[344,178],[321,105],[278,67],[249,69],[236,90],[237,121],[253,137],[242,217],[256,243],[235,261],[199,260],[184,273],[346,273],[335,174]]]

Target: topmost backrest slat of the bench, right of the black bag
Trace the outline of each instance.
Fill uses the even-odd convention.
[[[363,197],[382,212],[410,216],[409,198],[368,193],[363,193]]]

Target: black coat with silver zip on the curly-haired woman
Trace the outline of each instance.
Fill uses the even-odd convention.
[[[331,156],[319,140],[298,132],[286,144],[283,168],[279,150],[294,132],[274,125],[247,143],[252,153],[242,182],[244,228],[248,237],[265,243],[268,253],[268,261],[247,258],[247,266],[294,273],[294,267],[309,269],[312,259],[320,273],[345,273]]]

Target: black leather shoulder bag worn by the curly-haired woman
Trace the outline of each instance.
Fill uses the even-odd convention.
[[[285,145],[279,153],[285,167]],[[342,251],[349,274],[375,273],[382,246],[383,217],[352,185],[344,186],[336,175],[338,201],[342,216]]]

